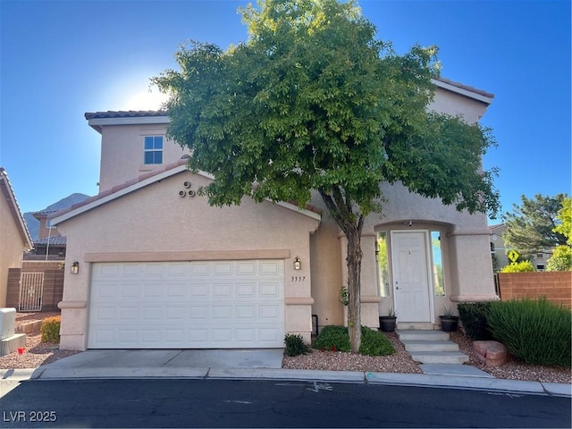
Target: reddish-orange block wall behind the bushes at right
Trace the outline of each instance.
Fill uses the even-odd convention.
[[[501,300],[546,296],[572,308],[572,272],[498,273]]]

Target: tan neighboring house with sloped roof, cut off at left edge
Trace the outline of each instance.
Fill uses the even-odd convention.
[[[32,248],[32,239],[3,167],[0,194],[0,307],[5,307],[8,270],[21,268],[23,252]]]

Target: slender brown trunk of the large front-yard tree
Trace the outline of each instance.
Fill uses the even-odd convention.
[[[348,331],[352,353],[359,353],[361,344],[361,231],[357,227],[348,231]]]

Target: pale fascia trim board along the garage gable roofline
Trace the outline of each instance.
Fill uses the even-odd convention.
[[[114,186],[112,189],[104,190],[100,192],[95,197],[87,198],[86,200],[74,204],[71,207],[64,208],[63,210],[58,211],[57,213],[48,216],[48,219],[51,220],[51,224],[56,226],[59,223],[63,223],[65,221],[70,220],[73,217],[76,217],[80,214],[86,213],[98,206],[103,206],[106,203],[114,201],[117,198],[121,198],[124,195],[130,194],[136,190],[142,189],[147,187],[148,185],[155,183],[156,181],[162,181],[168,177],[171,177],[179,172],[189,171],[187,167],[187,160],[181,159],[172,164],[165,164],[163,168],[155,170],[153,172],[147,172],[146,174],[140,175],[137,179],[133,179],[131,181],[126,181],[121,185]],[[212,174],[208,172],[198,171],[196,174],[199,174],[207,179],[214,179]],[[308,206],[308,208],[299,208],[290,202],[278,202],[276,203],[277,206],[282,206],[289,210],[293,210],[299,214],[305,214],[308,217],[311,217],[317,221],[322,219],[321,214],[316,213],[313,206]]]

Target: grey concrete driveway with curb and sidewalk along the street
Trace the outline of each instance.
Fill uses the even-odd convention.
[[[0,380],[288,380],[447,387],[572,397],[571,384],[496,379],[491,374],[467,365],[421,365],[424,374],[282,369],[282,352],[282,349],[88,350],[37,369],[0,370]]]

